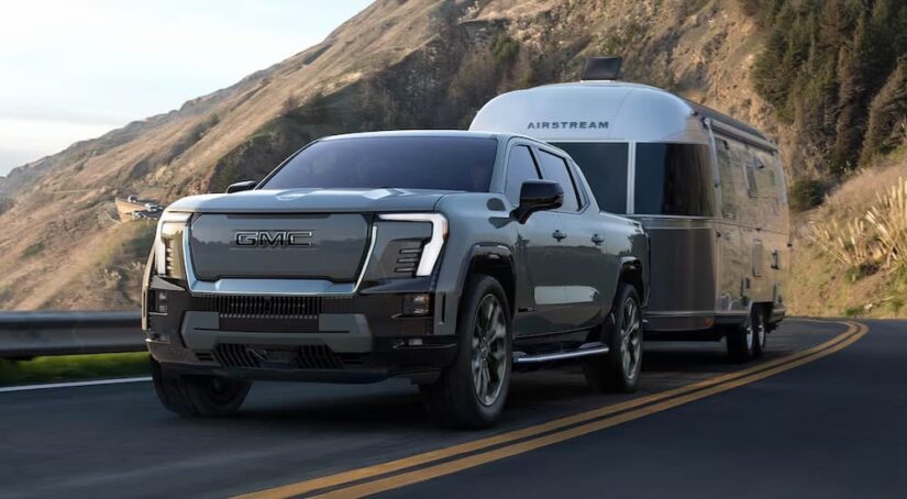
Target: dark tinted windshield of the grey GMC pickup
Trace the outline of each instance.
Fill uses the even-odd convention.
[[[497,141],[385,136],[316,142],[268,179],[265,189],[386,188],[487,192]]]

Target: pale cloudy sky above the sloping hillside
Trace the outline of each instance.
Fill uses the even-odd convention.
[[[370,0],[0,0],[0,176],[323,40]]]

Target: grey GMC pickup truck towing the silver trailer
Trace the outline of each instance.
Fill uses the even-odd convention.
[[[417,384],[442,423],[501,413],[511,372],[576,359],[635,389],[649,242],[601,212],[561,149],[510,134],[318,140],[262,181],[163,213],[143,328],[184,415],[252,380]]]

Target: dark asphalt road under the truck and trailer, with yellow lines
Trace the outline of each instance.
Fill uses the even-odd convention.
[[[787,321],[742,366],[653,343],[632,396],[520,374],[483,432],[435,428],[402,381],[259,384],[228,420],[148,382],[5,392],[0,496],[905,497],[907,323],[865,324]]]

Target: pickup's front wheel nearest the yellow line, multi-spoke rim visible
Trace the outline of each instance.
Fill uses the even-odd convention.
[[[488,276],[471,277],[457,314],[456,359],[438,381],[419,386],[432,419],[446,426],[476,429],[500,418],[513,364],[510,321],[500,284]]]

